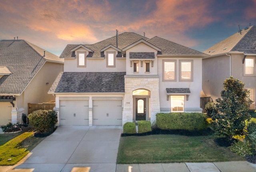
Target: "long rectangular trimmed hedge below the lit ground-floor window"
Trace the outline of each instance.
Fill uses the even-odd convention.
[[[204,130],[209,127],[203,113],[157,113],[156,126],[162,130]]]

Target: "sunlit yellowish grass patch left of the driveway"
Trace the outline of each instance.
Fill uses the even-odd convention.
[[[44,139],[35,137],[34,131],[28,130],[26,128],[18,133],[0,134],[0,166],[18,163]]]

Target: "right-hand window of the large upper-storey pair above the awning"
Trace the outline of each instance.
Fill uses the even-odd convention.
[[[179,62],[179,80],[193,81],[193,61],[180,60]]]

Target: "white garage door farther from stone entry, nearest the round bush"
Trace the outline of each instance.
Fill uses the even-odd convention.
[[[89,125],[88,100],[61,100],[60,125]]]

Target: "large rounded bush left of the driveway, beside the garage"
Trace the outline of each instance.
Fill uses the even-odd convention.
[[[39,133],[52,133],[58,122],[57,112],[52,110],[37,110],[28,115],[29,123]]]

